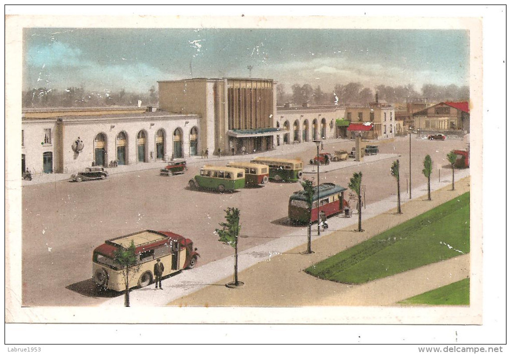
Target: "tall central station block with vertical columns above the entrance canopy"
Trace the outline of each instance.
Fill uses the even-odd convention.
[[[266,151],[273,148],[277,135],[274,87],[270,79],[158,81],[159,107],[202,117],[201,150],[215,154]]]

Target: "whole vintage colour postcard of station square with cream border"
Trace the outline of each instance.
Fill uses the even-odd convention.
[[[6,322],[482,323],[480,18],[6,33]]]

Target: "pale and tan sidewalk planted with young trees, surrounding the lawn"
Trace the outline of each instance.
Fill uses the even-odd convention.
[[[330,218],[328,232],[320,236],[315,235],[313,227],[312,250],[315,253],[312,255],[300,254],[306,250],[305,227],[297,229],[290,235],[240,252],[239,280],[245,285],[238,289],[228,289],[224,286],[233,277],[233,255],[193,270],[185,270],[164,280],[163,291],[155,291],[151,286],[133,290],[130,294],[131,305],[208,307],[390,305],[460,280],[469,274],[467,255],[398,274],[393,276],[396,277],[394,280],[390,279],[393,277],[388,277],[358,286],[319,280],[303,272],[322,259],[470,190],[469,170],[458,170],[455,178],[457,181],[455,191],[450,190],[451,181],[444,180],[440,183],[432,181],[432,201],[425,200],[425,186],[413,189],[412,195],[418,197],[411,201],[403,198],[401,215],[395,214],[396,197],[370,204],[362,212],[362,226],[366,230],[363,233],[353,231],[358,222],[356,214],[352,218],[343,216]],[[453,267],[457,271],[453,271]],[[406,287],[397,285],[404,283],[407,284]],[[383,298],[380,296],[381,289],[395,294]],[[123,301],[123,297],[118,296],[102,303],[101,306],[122,306]]]

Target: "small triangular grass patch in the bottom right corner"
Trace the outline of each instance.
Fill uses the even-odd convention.
[[[404,304],[470,305],[470,278],[400,301]]]

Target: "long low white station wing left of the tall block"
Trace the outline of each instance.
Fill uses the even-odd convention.
[[[198,154],[199,116],[152,109],[133,113],[139,110],[27,112],[29,117],[24,114],[21,119],[22,172],[29,168],[35,173],[73,173],[88,166],[132,165]]]

